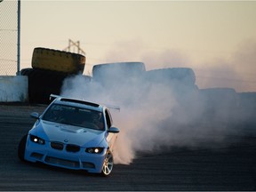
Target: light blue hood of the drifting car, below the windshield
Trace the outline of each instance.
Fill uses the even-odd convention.
[[[79,146],[100,144],[104,139],[104,132],[98,130],[87,129],[79,126],[68,124],[56,124],[41,120],[37,125],[37,135],[40,132],[44,134],[49,141],[59,141]],[[39,133],[39,134],[38,134]]]

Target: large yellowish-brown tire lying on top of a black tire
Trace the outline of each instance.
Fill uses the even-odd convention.
[[[83,74],[84,55],[36,47],[32,56],[32,68],[58,71],[68,74]]]

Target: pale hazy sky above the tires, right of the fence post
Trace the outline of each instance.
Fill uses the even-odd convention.
[[[21,0],[20,20],[21,68],[35,47],[63,50],[71,39],[86,52],[84,75],[141,61],[193,68],[199,88],[256,92],[256,1]]]

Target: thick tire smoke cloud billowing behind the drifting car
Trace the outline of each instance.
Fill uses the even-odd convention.
[[[146,71],[140,62],[101,64],[92,79],[67,78],[61,95],[121,108],[111,110],[120,129],[116,164],[131,164],[140,152],[211,147],[235,132],[230,122],[236,119],[236,92],[199,90],[191,68]]]

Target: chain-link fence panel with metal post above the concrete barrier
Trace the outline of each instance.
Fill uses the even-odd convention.
[[[0,0],[0,76],[17,72],[18,1]]]

